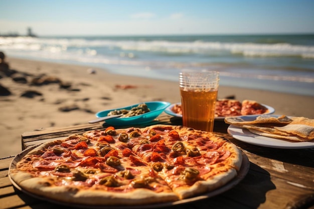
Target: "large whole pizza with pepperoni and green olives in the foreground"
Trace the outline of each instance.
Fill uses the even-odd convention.
[[[184,126],[91,130],[39,145],[9,176],[58,202],[143,205],[217,189],[237,176],[241,151],[226,138]]]

